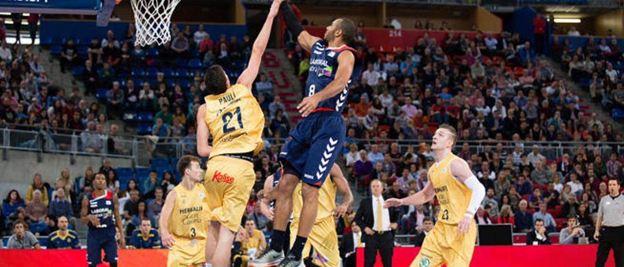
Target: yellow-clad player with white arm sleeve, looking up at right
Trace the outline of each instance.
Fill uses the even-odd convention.
[[[434,196],[440,204],[438,223],[427,234],[421,251],[411,267],[469,266],[477,239],[474,213],[485,196],[485,188],[470,167],[451,150],[457,140],[456,130],[440,125],[433,136],[431,150],[436,163],[429,168],[429,183],[420,192],[406,198],[391,198],[384,206],[420,205]]]

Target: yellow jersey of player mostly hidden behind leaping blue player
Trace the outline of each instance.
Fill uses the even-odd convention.
[[[329,176],[329,175],[328,175]],[[293,218],[298,220],[303,210],[303,197],[301,196],[301,182],[295,187],[293,194]],[[316,211],[316,221],[323,221],[324,218],[333,216],[331,211],[336,208],[336,183],[331,177],[327,177],[318,191],[318,210]]]

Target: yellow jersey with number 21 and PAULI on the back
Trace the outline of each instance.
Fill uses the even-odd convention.
[[[265,117],[248,88],[235,84],[223,94],[208,95],[204,100],[204,120],[212,135],[210,158],[226,153],[260,152]]]

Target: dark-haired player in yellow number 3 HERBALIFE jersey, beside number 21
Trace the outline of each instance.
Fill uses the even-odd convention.
[[[190,155],[178,161],[182,182],[167,194],[158,225],[162,245],[169,248],[167,266],[205,263],[208,197],[203,187],[201,160]]]

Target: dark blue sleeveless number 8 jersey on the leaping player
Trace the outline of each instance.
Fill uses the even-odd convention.
[[[352,52],[355,56],[355,64],[353,73],[344,90],[340,94],[334,95],[329,99],[325,99],[318,104],[318,108],[332,109],[342,112],[344,104],[349,94],[349,86],[358,82],[359,75],[362,71],[362,59],[358,52],[349,46],[327,47],[327,42],[323,39],[314,42],[310,49],[310,72],[308,73],[308,82],[306,83],[305,97],[310,97],[316,92],[323,90],[336,77],[338,71],[338,55],[342,52]]]

